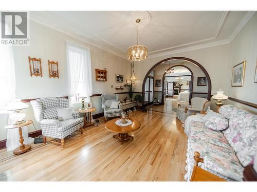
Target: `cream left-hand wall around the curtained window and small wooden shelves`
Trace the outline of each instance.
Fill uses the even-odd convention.
[[[130,79],[130,61],[113,55],[107,51],[86,44],[74,37],[68,36],[59,31],[53,30],[41,24],[30,22],[30,46],[14,46],[14,62],[16,75],[16,95],[20,99],[67,96],[67,72],[66,72],[66,46],[65,41],[69,40],[76,44],[90,48],[91,69],[93,78],[93,94],[127,92],[127,89],[116,91],[115,87]],[[30,77],[28,56],[41,58],[43,77]],[[47,60],[58,61],[59,79],[49,78]],[[107,81],[95,80],[95,69],[104,69],[107,72]],[[115,74],[124,75],[124,83],[115,82]],[[113,85],[113,88],[111,87]],[[120,100],[128,97],[128,94],[120,94]],[[101,108],[101,97],[91,97],[93,106],[97,111],[93,114],[103,112]],[[30,103],[29,108],[24,110],[26,119],[32,119],[36,129],[40,125],[34,119]],[[74,110],[80,108],[81,103],[74,104]],[[3,128],[7,125],[6,114],[0,114],[0,140],[6,139],[7,131]],[[3,120],[3,121],[2,121]],[[28,126],[29,132],[35,131],[32,125]]]

